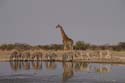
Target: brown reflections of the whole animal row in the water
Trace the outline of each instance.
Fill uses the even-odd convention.
[[[43,66],[44,65],[44,66]],[[47,70],[56,70],[58,65],[63,68],[62,80],[67,81],[74,76],[76,72],[86,73],[107,73],[111,72],[111,64],[94,64],[84,62],[42,62],[42,61],[12,61],[10,62],[11,69],[15,72],[25,70],[42,71],[43,67]]]

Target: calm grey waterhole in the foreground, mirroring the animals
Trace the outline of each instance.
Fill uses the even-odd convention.
[[[0,62],[0,83],[125,83],[125,65]]]

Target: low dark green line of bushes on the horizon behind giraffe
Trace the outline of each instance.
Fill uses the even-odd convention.
[[[2,44],[0,45],[0,50],[33,50],[33,49],[43,49],[43,50],[63,50],[63,45],[61,44],[50,44],[50,45],[29,45],[25,43],[14,43],[14,44]],[[125,42],[119,42],[116,45],[93,45],[86,43],[84,41],[77,41],[74,45],[75,50],[115,50],[121,51],[125,50]]]

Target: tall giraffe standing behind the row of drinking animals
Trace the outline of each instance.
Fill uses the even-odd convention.
[[[64,50],[73,50],[73,40],[66,35],[63,27],[58,24],[56,28],[60,28]]]

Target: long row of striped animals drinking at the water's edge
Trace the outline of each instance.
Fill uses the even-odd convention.
[[[108,50],[98,51],[13,51],[10,61],[73,61],[111,59]]]

